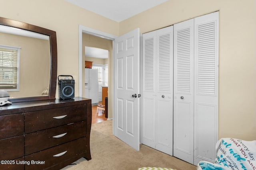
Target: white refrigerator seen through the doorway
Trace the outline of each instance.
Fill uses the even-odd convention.
[[[98,105],[98,69],[85,68],[85,97],[92,100],[92,106]]]

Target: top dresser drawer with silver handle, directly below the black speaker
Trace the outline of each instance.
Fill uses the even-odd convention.
[[[86,120],[86,105],[75,105],[25,113],[25,133]]]

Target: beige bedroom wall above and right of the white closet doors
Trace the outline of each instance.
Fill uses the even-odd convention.
[[[219,138],[256,140],[256,1],[169,0],[120,22],[141,33],[220,11]]]

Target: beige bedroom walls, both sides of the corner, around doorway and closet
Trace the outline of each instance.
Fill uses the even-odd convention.
[[[76,89],[78,89],[78,25],[112,35],[122,35],[136,27],[140,27],[140,32],[145,33],[220,11],[219,138],[256,139],[255,0],[169,0],[120,23],[64,0],[1,0],[1,2],[1,17],[56,31],[58,75],[73,75],[77,82]],[[10,8],[12,8],[11,12]],[[109,69],[112,71],[111,67]],[[75,91],[78,96],[78,90]]]

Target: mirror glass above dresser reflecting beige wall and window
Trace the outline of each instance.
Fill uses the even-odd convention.
[[[0,89],[10,99],[48,96],[50,66],[49,36],[0,25]]]

